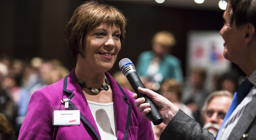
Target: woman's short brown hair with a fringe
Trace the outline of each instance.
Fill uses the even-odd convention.
[[[114,6],[100,1],[88,1],[76,8],[70,21],[66,25],[65,37],[68,48],[73,58],[79,53],[84,56],[83,39],[86,34],[101,23],[108,26],[116,26],[120,29],[120,41],[124,43],[126,18],[124,14]]]

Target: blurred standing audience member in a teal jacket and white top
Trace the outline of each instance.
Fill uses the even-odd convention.
[[[157,91],[166,78],[183,82],[180,60],[170,54],[176,40],[171,32],[157,32],[152,39],[152,50],[142,52],[137,60],[136,71],[145,88]]]

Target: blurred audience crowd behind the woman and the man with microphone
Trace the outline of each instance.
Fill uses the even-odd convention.
[[[183,84],[180,61],[169,54],[174,45],[175,39],[170,32],[156,33],[152,39],[152,51],[143,52],[139,57],[137,72],[146,88],[153,89],[153,83],[157,83],[158,89],[153,90],[159,91],[159,94],[216,135],[231,103],[232,94],[236,91],[237,76],[231,73],[218,76],[214,90],[227,91],[216,91],[210,95],[205,88],[207,74],[202,68],[194,68],[189,80]],[[44,60],[35,57],[27,62],[20,59],[12,60],[6,56],[1,58],[0,140],[17,139],[21,123],[27,115],[31,94],[39,88],[61,80],[68,73],[69,70],[57,59]],[[113,77],[120,86],[134,92],[120,71],[113,74]],[[153,127],[156,140],[165,126],[161,123]]]

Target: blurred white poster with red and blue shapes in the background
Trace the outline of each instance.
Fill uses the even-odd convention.
[[[219,31],[190,31],[187,45],[187,76],[192,68],[205,68],[207,81],[231,69],[231,62],[223,56],[224,40]]]

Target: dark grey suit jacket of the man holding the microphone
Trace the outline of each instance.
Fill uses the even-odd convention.
[[[214,140],[215,137],[199,123],[179,110],[164,129],[160,140]],[[228,140],[256,140],[256,96],[246,106],[243,115]]]

